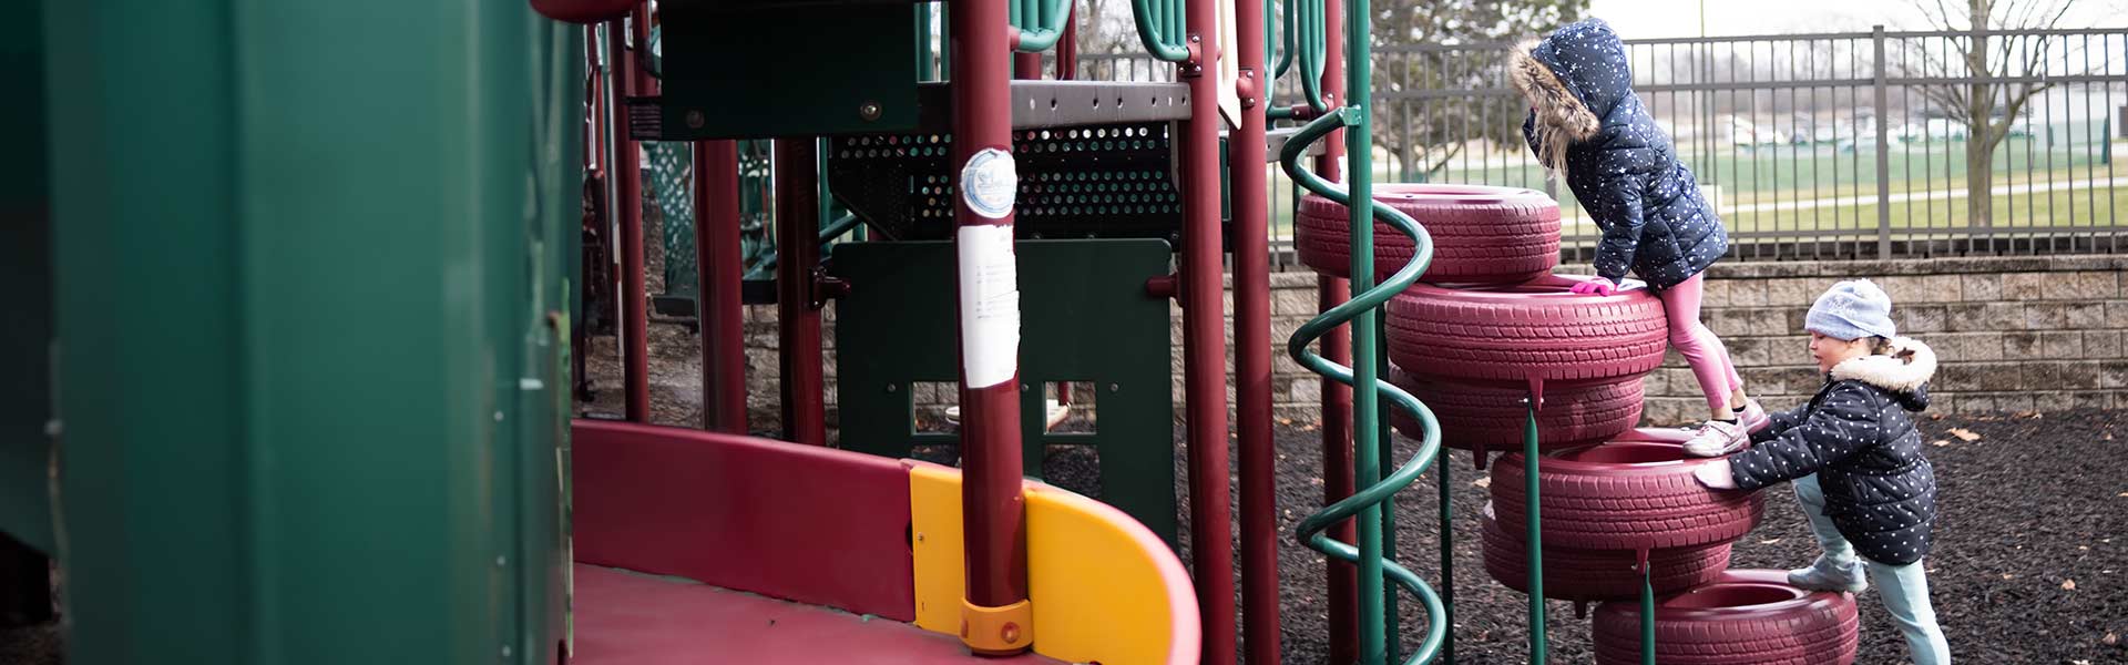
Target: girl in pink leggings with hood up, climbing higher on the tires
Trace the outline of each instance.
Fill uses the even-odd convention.
[[[1522,132],[1545,168],[1566,185],[1602,228],[1596,247],[1600,279],[1577,294],[1609,296],[1641,275],[1662,296],[1670,345],[1692,364],[1707,396],[1707,424],[1688,452],[1719,456],[1745,445],[1745,431],[1766,411],[1743,390],[1743,377],[1713,330],[1700,324],[1702,273],[1728,252],[1728,230],[1677,162],[1670,136],[1632,94],[1626,47],[1602,19],[1585,19],[1543,40],[1522,45],[1509,79],[1530,102]]]

